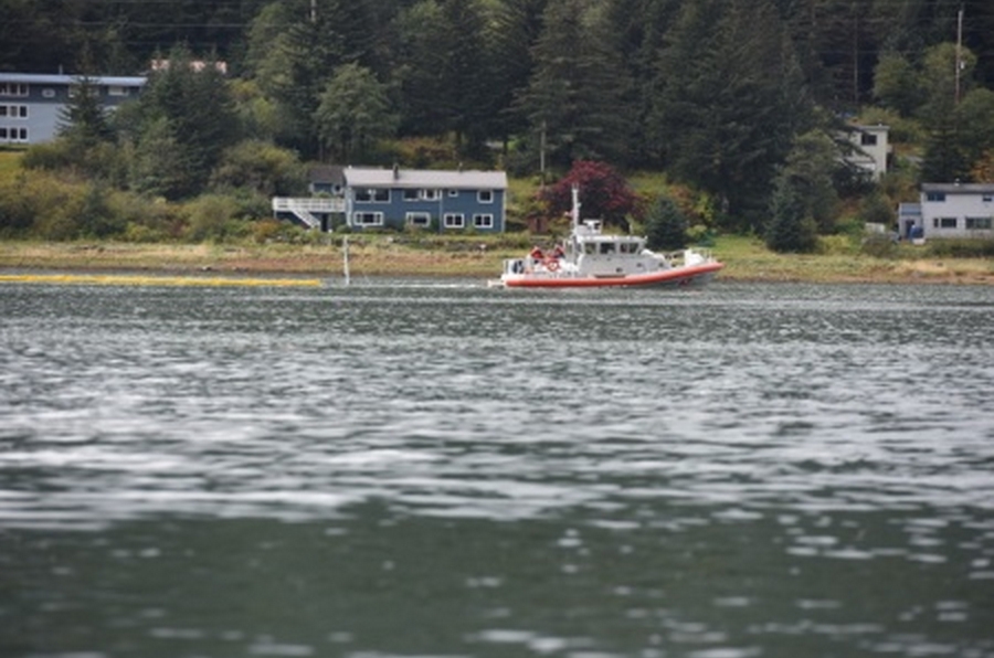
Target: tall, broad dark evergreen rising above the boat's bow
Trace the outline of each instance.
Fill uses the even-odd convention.
[[[758,227],[774,170],[811,121],[792,45],[770,2],[685,4],[657,86],[651,135],[664,162],[745,222],[737,227]]]

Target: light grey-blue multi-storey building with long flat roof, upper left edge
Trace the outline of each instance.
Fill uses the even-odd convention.
[[[0,73],[0,145],[54,139],[82,79],[75,75]],[[88,81],[106,109],[137,97],[146,83],[145,77],[117,76],[92,76]]]

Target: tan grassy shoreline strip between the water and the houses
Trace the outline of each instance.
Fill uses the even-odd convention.
[[[424,250],[391,241],[349,248],[352,277],[496,278],[501,261],[519,250]],[[884,259],[847,255],[722,253],[716,282],[821,284],[994,285],[994,261]],[[0,241],[0,275],[116,274],[191,278],[341,278],[343,253],[335,245],[210,245],[133,243],[21,243]],[[0,279],[2,280],[2,279]]]

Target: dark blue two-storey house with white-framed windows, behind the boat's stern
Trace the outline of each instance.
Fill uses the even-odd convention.
[[[505,230],[507,173],[503,171],[348,167],[342,178],[345,220],[353,229]]]

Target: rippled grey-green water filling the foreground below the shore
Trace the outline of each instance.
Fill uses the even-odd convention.
[[[994,290],[0,286],[0,656],[994,656]]]

